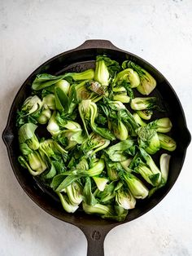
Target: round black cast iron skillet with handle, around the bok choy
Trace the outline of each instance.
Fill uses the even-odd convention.
[[[96,55],[103,54],[110,56],[111,59],[117,60],[120,63],[126,59],[133,60],[143,68],[146,68],[146,70],[155,77],[157,81],[157,89],[155,89],[154,94],[163,98],[164,104],[167,108],[166,115],[172,120],[172,136],[177,139],[177,149],[172,152],[168,183],[164,188],[159,189],[159,191],[150,199],[137,203],[137,208],[131,210],[126,220],[121,223],[84,214],[82,211],[77,211],[75,214],[65,213],[61,204],[59,204],[59,201],[55,199],[55,196],[43,188],[41,184],[37,183],[37,181],[33,179],[26,170],[22,170],[17,161],[20,152],[18,150],[18,136],[15,129],[15,113],[17,108],[20,108],[21,104],[24,102],[24,99],[30,95],[31,83],[36,77],[36,74],[59,74],[65,71],[81,72],[86,68],[94,67]],[[185,159],[186,148],[190,143],[190,132],[186,127],[185,115],[175,91],[158,70],[136,55],[120,50],[109,41],[88,40],[76,49],[64,52],[46,61],[46,63],[41,64],[41,66],[28,77],[15,96],[9,113],[7,126],[2,134],[2,139],[7,146],[8,156],[16,179],[18,179],[24,191],[37,205],[39,205],[43,210],[46,210],[47,213],[63,220],[64,222],[72,223],[76,227],[79,227],[81,231],[84,232],[88,241],[87,254],[94,256],[104,254],[103,242],[105,236],[113,227],[122,223],[127,223],[140,217],[142,214],[146,214],[148,210],[155,207],[155,205],[157,205],[169,192],[181,172],[181,167]]]

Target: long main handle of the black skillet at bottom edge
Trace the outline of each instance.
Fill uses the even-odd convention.
[[[80,226],[79,226],[80,227]],[[87,239],[87,256],[104,256],[104,240],[107,233],[112,227],[88,227],[81,226],[80,229],[84,232]]]

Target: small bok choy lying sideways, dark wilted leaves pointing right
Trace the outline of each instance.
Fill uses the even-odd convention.
[[[130,104],[133,110],[151,109],[157,106],[156,97],[134,98]]]

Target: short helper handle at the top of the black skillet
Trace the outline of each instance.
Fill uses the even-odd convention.
[[[75,50],[85,50],[92,48],[120,50],[118,47],[114,46],[110,41],[103,39],[86,40],[84,43],[81,44],[81,46],[76,47]]]

